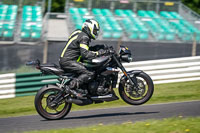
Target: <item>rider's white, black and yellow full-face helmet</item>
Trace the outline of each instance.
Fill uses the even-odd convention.
[[[100,26],[96,20],[87,19],[82,25],[82,31],[86,32],[92,39],[98,37]]]

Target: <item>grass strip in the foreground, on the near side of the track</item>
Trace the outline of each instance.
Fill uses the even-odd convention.
[[[79,127],[31,131],[25,133],[200,133],[200,118],[167,118],[163,120],[147,120],[142,122],[125,122],[118,125]]]

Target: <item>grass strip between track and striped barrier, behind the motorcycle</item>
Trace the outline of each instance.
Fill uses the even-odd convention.
[[[117,92],[118,93],[118,92]],[[183,82],[155,85],[153,97],[147,104],[200,100],[200,82]],[[34,96],[0,100],[0,117],[12,117],[37,114],[34,108]],[[109,108],[128,106],[124,101],[104,102],[87,106],[72,106],[72,110]]]

